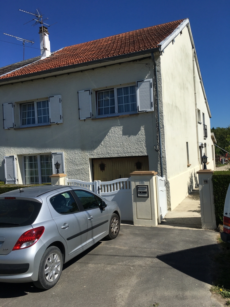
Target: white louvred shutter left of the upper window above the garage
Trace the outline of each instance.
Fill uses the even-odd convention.
[[[79,119],[92,118],[91,90],[78,92]]]

